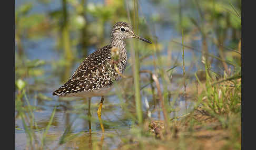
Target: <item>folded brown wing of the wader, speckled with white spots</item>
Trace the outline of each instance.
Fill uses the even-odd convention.
[[[91,53],[76,69],[72,77],[53,95],[65,95],[108,87],[118,73],[111,62],[111,46],[105,46]]]

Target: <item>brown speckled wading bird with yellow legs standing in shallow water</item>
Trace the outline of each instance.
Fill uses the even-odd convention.
[[[116,22],[111,31],[110,44],[88,55],[70,79],[53,92],[53,95],[58,97],[81,97],[89,100],[91,97],[101,97],[97,115],[103,132],[101,110],[104,97],[126,68],[125,39],[127,38],[137,38],[152,44],[151,41],[136,35],[128,23]]]

